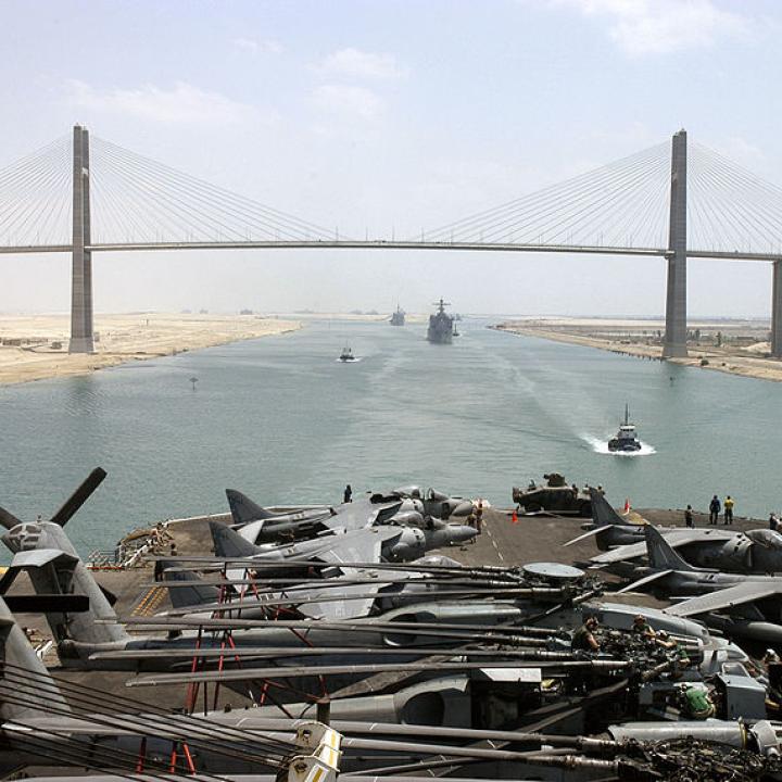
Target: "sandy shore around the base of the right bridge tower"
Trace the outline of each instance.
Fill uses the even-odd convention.
[[[507,321],[495,328],[510,333],[659,361],[663,349],[657,332],[665,329],[665,324],[657,320],[541,318]],[[688,345],[688,358],[668,361],[730,375],[782,381],[782,361],[766,355],[770,350],[766,341],[768,326],[761,321],[703,320],[689,324],[689,329],[698,329],[702,341]],[[726,343],[719,346],[714,339],[718,332],[726,339]]]

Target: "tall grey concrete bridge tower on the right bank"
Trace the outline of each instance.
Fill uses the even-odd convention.
[[[668,293],[663,357],[686,356],[686,130],[671,144],[670,222],[668,224]]]

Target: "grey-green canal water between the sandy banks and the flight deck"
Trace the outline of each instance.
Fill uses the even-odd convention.
[[[422,325],[312,321],[301,331],[0,388],[0,505],[51,515],[101,465],[68,525],[81,553],[131,527],[261,504],[340,501],[419,483],[509,506],[514,484],[563,472],[639,507],[736,515],[782,508],[782,386],[518,337],[464,320],[454,344]],[[362,357],[337,360],[343,345]],[[192,390],[190,378],[198,378]],[[646,447],[605,442],[630,404]]]

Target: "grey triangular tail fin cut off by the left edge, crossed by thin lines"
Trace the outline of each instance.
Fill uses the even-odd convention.
[[[45,712],[37,705],[41,699],[47,710],[71,711],[71,707],[16,623],[5,601],[0,597],[0,720],[24,721]]]

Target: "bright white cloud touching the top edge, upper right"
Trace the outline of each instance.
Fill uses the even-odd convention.
[[[555,0],[608,20],[608,35],[628,54],[663,54],[746,34],[748,20],[712,0]]]

